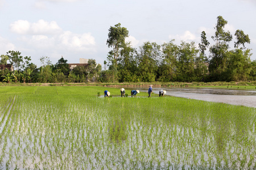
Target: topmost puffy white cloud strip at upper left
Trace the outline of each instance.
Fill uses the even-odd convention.
[[[30,23],[27,20],[18,20],[10,24],[11,32],[22,35],[45,35],[61,32],[61,28],[56,22],[46,22],[41,19],[36,23]]]

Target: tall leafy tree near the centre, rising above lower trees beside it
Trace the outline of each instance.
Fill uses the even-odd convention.
[[[109,38],[106,44],[109,48],[113,48],[109,52],[109,60],[113,60],[114,65],[117,65],[120,50],[125,46],[125,38],[128,37],[128,34],[129,31],[125,27],[121,27],[120,23],[109,28]]]

